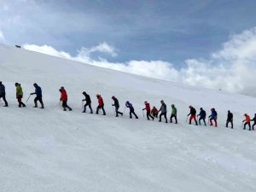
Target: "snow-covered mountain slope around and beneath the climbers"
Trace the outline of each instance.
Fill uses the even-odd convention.
[[[249,96],[119,73],[49,55],[0,46],[0,80],[9,108],[0,108],[0,189],[45,191],[256,191],[256,131],[242,131],[243,113],[256,113]],[[15,82],[24,98],[38,83],[45,109],[17,108]],[[73,112],[58,106],[65,86]],[[82,92],[96,109],[103,96],[107,116],[81,113]],[[139,119],[114,117],[111,96],[133,103]],[[143,118],[143,102],[170,117],[177,106],[178,125]],[[218,128],[186,123],[189,105],[216,108]],[[235,129],[224,127],[227,110]]]

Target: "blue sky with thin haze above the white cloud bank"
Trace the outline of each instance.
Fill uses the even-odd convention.
[[[253,0],[1,2],[9,44],[48,44],[74,55],[107,42],[118,49],[109,61],[161,60],[178,67],[188,58],[207,58],[230,34],[256,25]]]

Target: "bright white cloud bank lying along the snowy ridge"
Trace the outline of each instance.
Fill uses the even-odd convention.
[[[220,88],[256,96],[256,90],[253,86],[256,82],[256,76],[254,75],[256,73],[256,27],[231,36],[230,40],[223,44],[223,49],[213,53],[210,60],[189,59],[185,61],[184,67],[181,69],[173,67],[172,63],[166,61],[116,63],[109,62],[101,57],[98,59],[90,57],[92,52],[108,53],[111,56],[116,56],[116,49],[107,43],[92,48],[82,48],[76,56],[57,51],[46,45],[26,44],[25,49],[155,79],[165,79],[212,89]]]

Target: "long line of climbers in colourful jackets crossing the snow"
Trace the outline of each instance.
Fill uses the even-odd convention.
[[[41,108],[44,108],[42,89],[36,83],[33,84],[33,86],[35,88],[35,91],[30,94],[30,96],[36,95],[36,97],[34,99],[35,106],[33,108],[38,108],[38,102],[41,103]],[[19,108],[21,108],[21,107],[25,108],[26,105],[24,104],[24,102],[22,102],[23,91],[22,91],[21,85],[19,83],[15,83],[15,87],[16,87],[16,98],[17,98],[17,101],[19,103]],[[61,106],[62,106],[63,110],[67,111],[67,109],[68,109],[69,111],[72,111],[73,109],[70,108],[67,105],[67,91],[64,89],[63,86],[61,86],[61,89],[59,91],[61,93],[60,104],[62,102]],[[84,110],[83,110],[82,113],[86,113],[86,107],[89,107],[90,108],[90,113],[93,113],[92,108],[91,108],[90,96],[85,91],[82,94],[85,97],[82,100],[82,102],[85,102],[85,104],[83,104]],[[9,105],[8,105],[8,102],[6,101],[5,96],[6,96],[5,86],[0,81],[0,99],[3,98],[3,102],[5,104],[3,107],[8,107]],[[28,97],[28,99],[30,98],[30,96]],[[96,108],[96,114],[98,114],[99,110],[102,109],[103,115],[106,115],[102,96],[99,95],[99,94],[96,94],[96,98],[98,100],[98,106]],[[28,99],[27,99],[27,101],[28,101]],[[115,108],[114,111],[116,113],[116,117],[119,117],[119,114],[123,116],[124,113],[119,112],[119,101],[118,101],[118,99],[115,96],[112,96],[112,99],[113,99],[112,106]],[[166,123],[168,123],[167,117],[166,117],[166,115],[167,115],[166,103],[163,100],[161,100],[160,103],[161,103],[161,106],[160,106],[159,110],[155,107],[153,107],[152,110],[151,110],[150,104],[148,102],[144,102],[145,108],[143,108],[143,111],[146,110],[146,112],[147,112],[146,115],[147,115],[148,120],[150,120],[150,119],[154,120],[154,118],[158,118],[158,114],[160,113],[159,122],[161,122],[162,116],[164,116],[164,118],[166,119]],[[137,114],[135,113],[131,102],[129,102],[129,101],[125,102],[125,107],[130,109],[130,118],[131,119],[132,119],[132,114],[135,116],[136,119],[138,119]],[[172,107],[172,113],[171,113],[171,117],[170,117],[170,123],[172,123],[172,119],[174,118],[175,119],[175,124],[177,124],[177,108],[175,107],[174,104],[172,104],[171,107]],[[197,114],[197,115],[196,115],[195,108],[193,108],[192,106],[189,106],[189,109],[190,109],[190,112],[188,114],[188,118],[189,118],[189,124],[190,125],[191,125],[191,121],[193,119],[195,120],[195,125],[198,125],[197,118],[199,117],[199,119],[198,119],[199,120],[199,125],[201,125],[201,120],[202,120],[204,122],[204,125],[207,126],[207,122],[206,122],[207,113],[203,108],[200,108],[200,113]],[[143,116],[144,116],[144,113],[143,113]],[[227,117],[227,120],[226,120],[226,127],[228,127],[228,125],[231,124],[231,129],[233,129],[233,113],[231,113],[230,110],[229,110],[227,116],[228,117]],[[250,122],[253,121],[254,123],[253,123],[252,128],[254,130],[254,125],[256,125],[256,113],[254,114],[253,119],[251,119],[250,116],[247,113],[245,113],[244,116],[245,116],[245,119],[242,121],[242,123],[245,122],[245,124],[243,125],[243,129],[245,130],[246,125],[248,125],[249,131],[251,131],[251,123]],[[188,118],[187,118],[186,121],[188,121]],[[217,127],[218,126],[217,119],[218,119],[218,113],[215,110],[215,108],[212,108],[211,109],[211,115],[208,116],[208,121],[209,121],[208,123],[210,125],[213,125],[212,124],[212,120],[213,120],[215,127]]]

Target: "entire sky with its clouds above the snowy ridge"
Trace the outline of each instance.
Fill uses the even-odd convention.
[[[0,43],[256,96],[255,0],[0,0]]]

